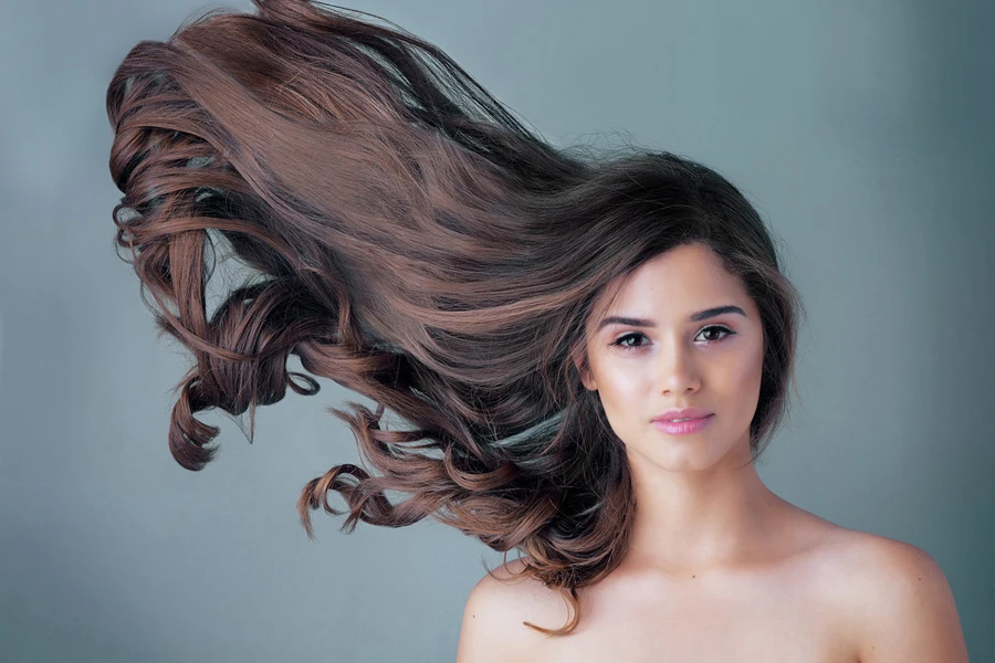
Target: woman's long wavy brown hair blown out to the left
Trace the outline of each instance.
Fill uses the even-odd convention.
[[[252,422],[287,387],[317,392],[287,370],[296,355],[378,403],[328,409],[363,466],[305,485],[307,536],[320,507],[348,513],[346,533],[431,516],[505,558],[523,552],[522,572],[574,609],[561,629],[524,623],[572,631],[577,589],[618,566],[636,507],[625,446],[579,379],[585,322],[653,256],[691,242],[715,251],[763,318],[755,460],[787,409],[804,313],[764,222],[690,159],[554,148],[394,23],[254,4],[138,43],[107,90],[116,248],[159,334],[196,359],[170,452],[201,470],[219,429],[197,412],[249,410]],[[251,275],[211,312],[218,244]],[[412,428],[381,428],[386,410]]]

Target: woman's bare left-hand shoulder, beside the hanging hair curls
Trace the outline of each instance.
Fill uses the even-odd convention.
[[[525,663],[535,657],[546,635],[524,624],[544,628],[566,622],[567,604],[554,590],[522,573],[522,559],[513,559],[485,573],[467,598],[457,663]]]

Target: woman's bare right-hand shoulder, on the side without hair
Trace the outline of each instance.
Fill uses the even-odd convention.
[[[860,663],[966,663],[967,649],[946,576],[925,550],[840,528],[827,546],[845,593]]]

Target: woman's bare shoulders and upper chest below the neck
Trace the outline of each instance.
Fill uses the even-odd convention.
[[[526,576],[484,576],[463,614],[457,663],[967,663],[939,565],[903,541],[847,529],[777,498],[766,552],[703,571],[628,562],[582,588],[580,620]]]

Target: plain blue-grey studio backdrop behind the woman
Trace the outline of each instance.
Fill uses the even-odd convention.
[[[322,379],[260,409],[252,445],[202,414],[223,450],[201,473],[168,453],[188,359],[113,251],[104,94],[132,45],[211,6],[2,7],[0,657],[450,661],[500,555],[433,520],[346,536],[316,513],[317,543],[297,523],[303,484],[357,460],[324,408],[368,401]],[[972,661],[995,660],[992,6],[350,7],[442,46],[554,143],[618,135],[742,187],[810,312],[803,401],[762,476],[926,550]]]

